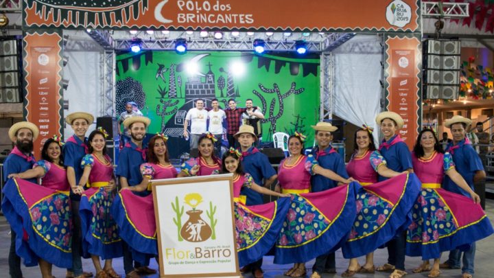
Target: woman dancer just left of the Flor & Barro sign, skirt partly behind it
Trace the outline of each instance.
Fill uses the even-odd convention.
[[[151,191],[150,180],[175,178],[177,171],[168,158],[168,137],[154,135],[148,143],[148,163],[141,164],[143,181],[121,189],[113,202],[112,215],[120,229],[120,238],[132,249],[132,257],[143,265],[158,256],[156,219],[152,194],[137,196],[132,191]],[[143,215],[143,211],[146,211]]]

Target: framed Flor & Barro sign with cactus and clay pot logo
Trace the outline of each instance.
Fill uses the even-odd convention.
[[[240,277],[232,178],[151,181],[160,277]]]

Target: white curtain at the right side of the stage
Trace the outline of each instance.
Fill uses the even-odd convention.
[[[380,112],[381,53],[360,51],[379,48],[378,36],[357,35],[333,51],[333,113],[355,126],[366,124],[374,128],[376,146],[379,140],[375,116]]]

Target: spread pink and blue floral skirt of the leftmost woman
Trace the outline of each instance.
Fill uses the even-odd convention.
[[[5,184],[3,194],[2,211],[16,233],[16,253],[25,266],[36,266],[44,259],[71,268],[69,192],[16,178]]]

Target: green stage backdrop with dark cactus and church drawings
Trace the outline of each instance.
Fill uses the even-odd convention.
[[[307,135],[311,147],[314,132],[310,125],[319,119],[320,57],[307,54],[264,54],[237,51],[141,51],[116,56],[115,108],[125,111],[126,102],[136,102],[150,117],[148,133],[163,132],[169,137],[170,157],[189,152],[183,135],[185,115],[200,98],[211,108],[217,98],[228,108],[234,98],[237,107],[246,100],[261,108],[262,141],[272,141],[274,132]],[[224,121],[226,124],[226,120]]]

